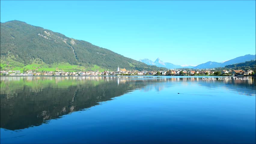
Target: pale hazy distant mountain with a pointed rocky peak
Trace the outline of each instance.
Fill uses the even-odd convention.
[[[166,67],[168,69],[175,69],[175,68],[192,68],[194,66],[191,65],[185,65],[185,66],[181,66],[181,65],[176,65],[176,64],[172,64],[169,62],[163,62],[160,60],[160,58],[157,58],[154,62],[145,58],[145,59],[140,59],[139,61],[144,62],[145,64],[148,65],[155,65],[157,67]]]

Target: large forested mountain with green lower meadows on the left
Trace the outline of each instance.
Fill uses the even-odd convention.
[[[127,70],[165,69],[18,20],[1,22],[0,49],[2,69],[10,66],[12,69],[32,69],[33,64],[50,68],[59,63],[67,64],[71,70],[72,67],[116,70],[118,65]]]

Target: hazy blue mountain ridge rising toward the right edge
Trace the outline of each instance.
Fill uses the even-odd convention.
[[[223,63],[220,62],[212,62],[208,61],[203,64],[199,64],[195,67],[194,69],[202,69],[202,68],[215,68],[215,67],[225,67],[225,65],[230,65],[230,64],[236,64],[236,63],[242,63],[245,61],[250,61],[250,60],[255,60],[255,55],[244,55],[244,56],[239,56],[237,58],[230,59],[228,61],[225,61]]]

